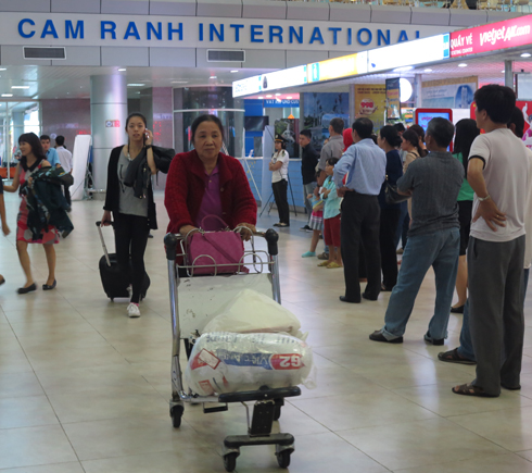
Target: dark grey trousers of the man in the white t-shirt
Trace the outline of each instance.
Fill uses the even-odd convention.
[[[477,358],[473,385],[498,395],[520,385],[524,236],[505,242],[471,237],[467,250],[469,328]]]

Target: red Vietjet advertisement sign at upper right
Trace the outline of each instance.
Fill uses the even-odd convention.
[[[532,43],[532,15],[451,33],[451,58]]]

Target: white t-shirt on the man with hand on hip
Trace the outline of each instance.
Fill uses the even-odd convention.
[[[511,241],[524,235],[524,213],[531,184],[532,163],[523,142],[508,128],[497,128],[478,136],[469,159],[484,161],[484,181],[487,192],[497,208],[506,213],[506,226],[493,232],[484,219],[471,223],[471,236],[485,241]],[[484,197],[484,196],[482,196]],[[472,215],[479,208],[474,195]]]

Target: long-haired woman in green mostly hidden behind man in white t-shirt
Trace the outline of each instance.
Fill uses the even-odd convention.
[[[471,119],[460,120],[456,124],[455,146],[453,155],[464,164],[464,183],[458,194],[458,220],[460,222],[460,257],[456,274],[456,294],[458,301],[451,308],[452,313],[464,313],[467,301],[467,262],[466,251],[471,229],[474,191],[467,182],[467,162],[471,145],[480,135],[477,122]]]

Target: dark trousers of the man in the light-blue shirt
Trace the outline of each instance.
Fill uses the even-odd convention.
[[[345,297],[360,301],[359,251],[364,245],[368,285],[365,294],[375,298],[380,292],[380,207],[377,196],[345,192],[342,202],[342,259]]]

